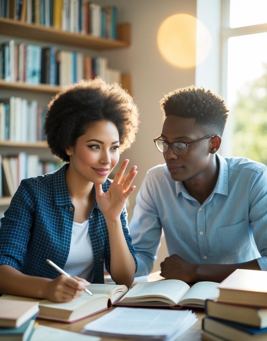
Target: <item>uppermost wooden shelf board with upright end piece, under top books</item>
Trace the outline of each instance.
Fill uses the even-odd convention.
[[[62,31],[43,25],[21,23],[9,18],[0,18],[0,32],[1,35],[94,50],[123,48],[131,44],[131,27],[127,23],[117,25],[117,40]]]

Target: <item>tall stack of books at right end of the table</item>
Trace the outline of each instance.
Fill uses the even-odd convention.
[[[207,299],[202,340],[267,340],[267,271],[237,269]]]

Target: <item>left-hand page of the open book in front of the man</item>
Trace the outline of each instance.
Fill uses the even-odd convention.
[[[119,303],[165,302],[177,305],[190,286],[180,280],[163,280],[158,282],[137,283]]]

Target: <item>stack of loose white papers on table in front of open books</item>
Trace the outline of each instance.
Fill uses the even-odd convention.
[[[192,311],[115,308],[84,326],[82,333],[138,340],[176,340],[197,321]]]

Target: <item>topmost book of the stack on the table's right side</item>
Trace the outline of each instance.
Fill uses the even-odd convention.
[[[218,286],[219,302],[267,308],[267,271],[236,269]]]

